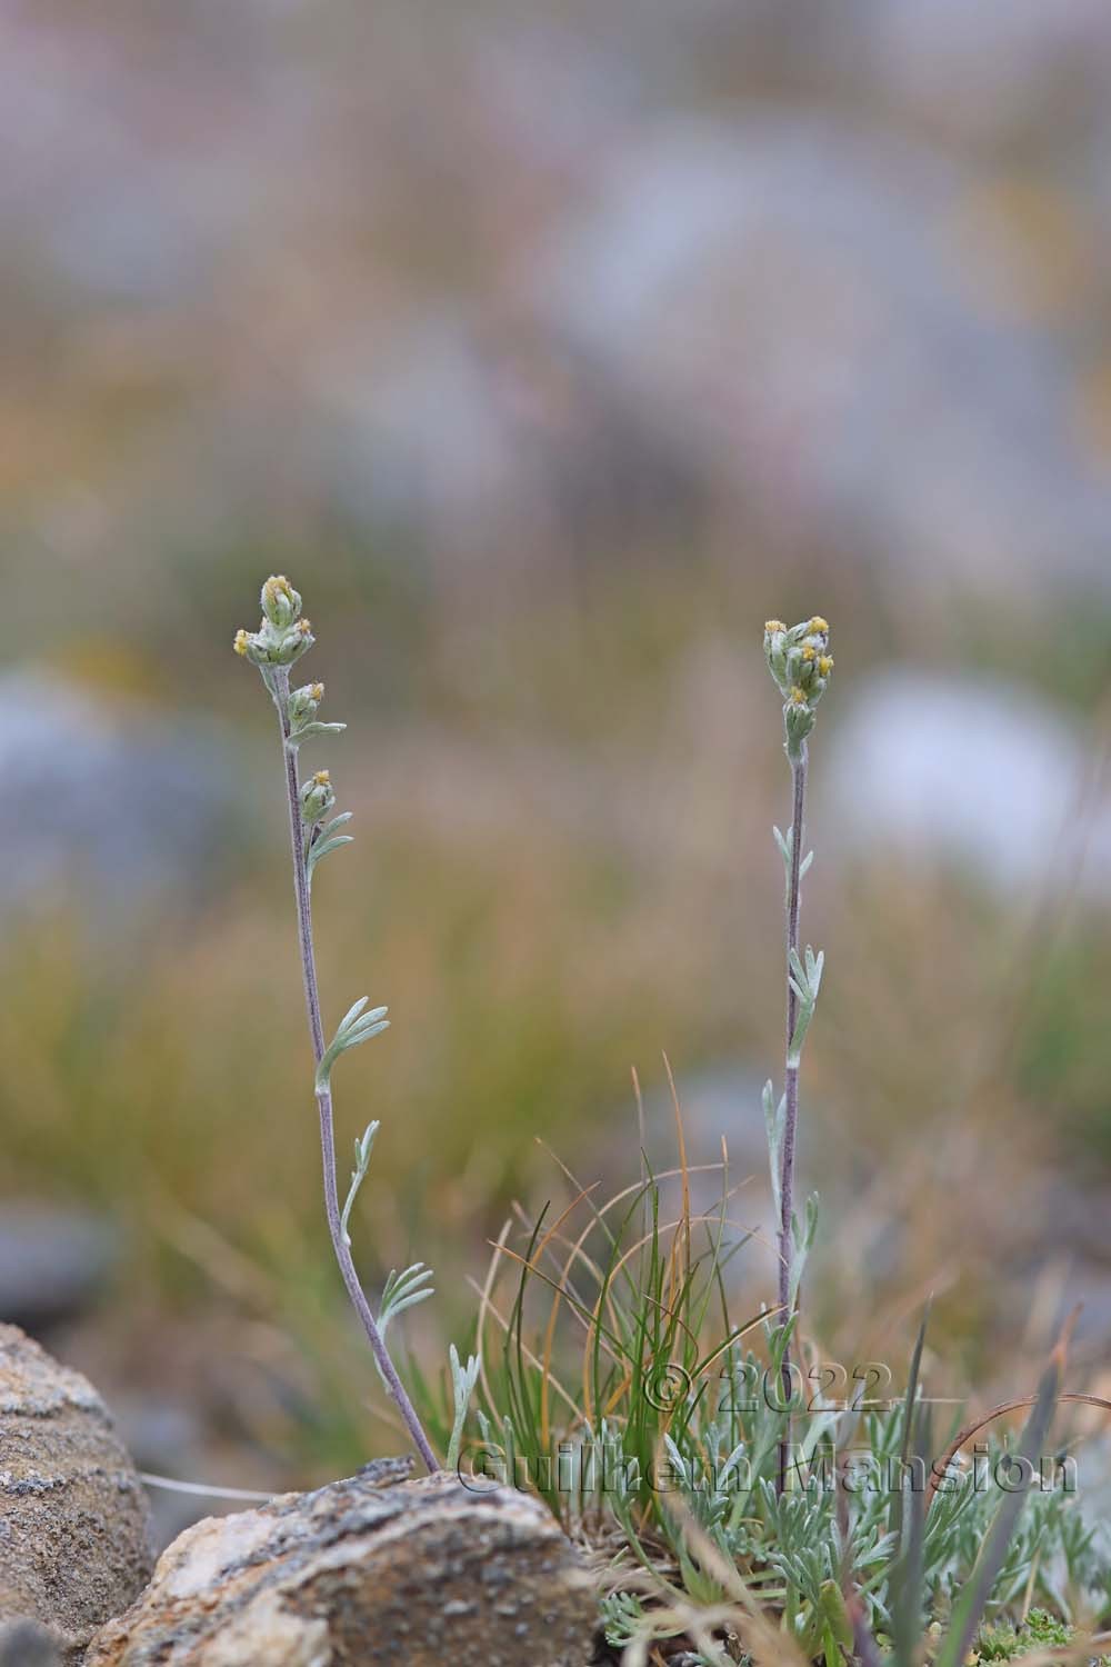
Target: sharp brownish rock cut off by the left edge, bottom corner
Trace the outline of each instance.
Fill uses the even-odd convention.
[[[77,1660],[143,1589],[147,1500],[92,1384],[15,1325],[0,1325],[0,1624],[38,1622]],[[0,1635],[8,1655],[20,1632]]]

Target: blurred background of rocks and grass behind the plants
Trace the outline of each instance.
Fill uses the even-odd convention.
[[[0,1309],[148,1469],[398,1450],[325,1235],[285,572],[368,1285],[430,1379],[520,1200],[730,1144],[768,1215],[790,820],[763,620],[833,625],[803,1169],[836,1359],[1029,1387],[1111,1325],[1103,0],[27,0],[0,17]],[[308,753],[306,753],[308,757]],[[771,1257],[746,1275],[771,1294]],[[1106,1385],[1104,1385],[1106,1387]],[[170,1500],[163,1532],[212,1509]],[[170,1512],[170,1515],[167,1515]],[[177,1512],[177,1515],[173,1515]]]

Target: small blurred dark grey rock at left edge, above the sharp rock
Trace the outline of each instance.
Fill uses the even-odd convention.
[[[90,1210],[0,1204],[0,1322],[30,1332],[80,1314],[117,1259],[117,1235]]]

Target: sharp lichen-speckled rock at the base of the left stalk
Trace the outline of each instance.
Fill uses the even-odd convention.
[[[187,1529],[87,1667],[585,1667],[595,1627],[536,1500],[356,1475]]]

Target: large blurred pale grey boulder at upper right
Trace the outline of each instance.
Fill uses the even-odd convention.
[[[976,188],[939,148],[813,112],[666,120],[600,158],[531,303],[791,540],[899,585],[1106,590],[1074,367],[961,237]]]

